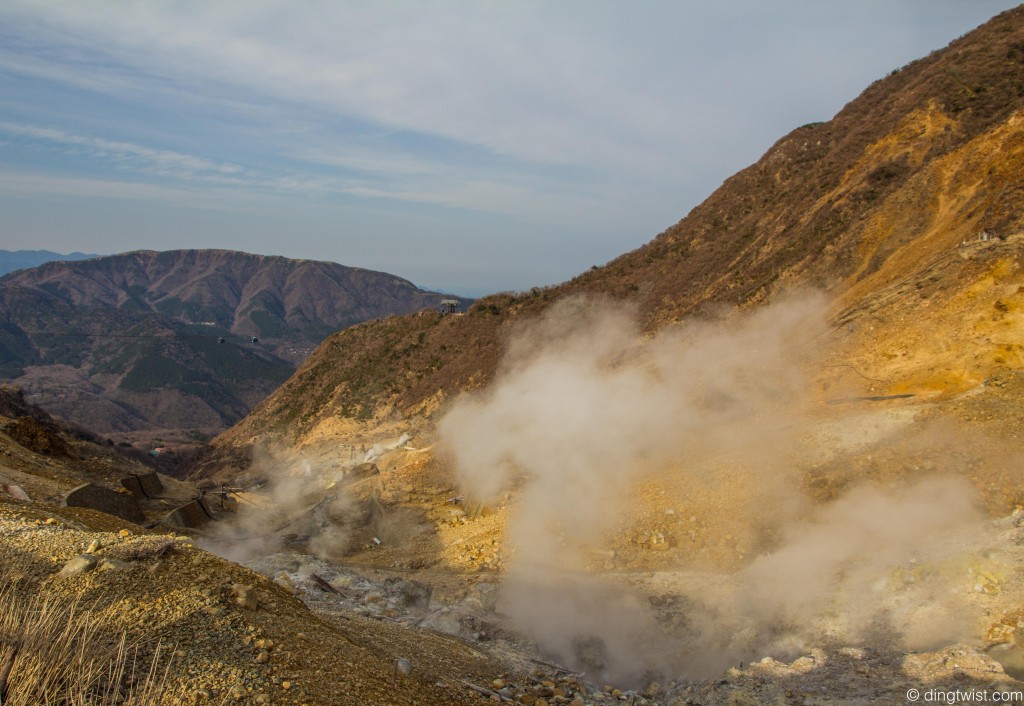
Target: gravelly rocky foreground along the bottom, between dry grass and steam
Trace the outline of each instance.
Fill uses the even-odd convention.
[[[145,532],[100,513],[17,501],[0,504],[3,580],[78,598],[125,632],[142,659],[158,645],[173,662],[167,703],[534,704],[906,703],[908,690],[1024,689],[979,645],[906,653],[822,642],[795,659],[764,657],[705,680],[662,679],[633,690],[593,683],[544,659],[502,626],[500,588],[477,581],[465,597],[394,572],[306,554],[223,560],[186,537]],[[1002,521],[1004,563],[1018,559],[1021,516]],[[1019,567],[1020,565],[1017,564]],[[631,575],[636,588],[679,576]],[[1019,570],[987,601],[990,652],[1020,674]],[[998,579],[996,579],[998,580]],[[980,584],[979,584],[980,585]],[[651,594],[672,613],[668,594]],[[1021,621],[1024,622],[1024,621]],[[404,672],[409,673],[404,673]]]

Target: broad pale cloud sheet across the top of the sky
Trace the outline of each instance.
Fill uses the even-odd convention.
[[[996,10],[1005,3],[979,4]],[[918,9],[906,12],[927,14],[925,5],[909,3]],[[65,53],[77,48],[104,74],[110,66],[122,68],[113,72],[117,80],[134,77],[142,90],[155,78],[206,89],[233,86],[527,162],[656,172],[666,179],[680,164],[729,162],[727,174],[740,166],[737,159],[751,159],[742,146],[753,140],[766,148],[779,131],[770,123],[778,106],[803,99],[779,92],[779,72],[805,77],[807,91],[831,91],[837,97],[829,108],[840,108],[851,92],[845,85],[834,88],[834,79],[852,63],[831,50],[843,38],[818,32],[816,24],[826,16],[834,24],[865,23],[894,13],[900,10],[882,3],[829,9],[798,2],[769,9],[569,0],[253,0],[132,3],[117,11],[102,0],[7,0],[0,8],[0,18],[12,27],[59,38],[71,47]],[[784,37],[771,31],[770,24],[785,22],[793,31]],[[904,39],[900,29],[876,25],[873,42]],[[786,49],[775,54],[781,64],[748,68],[752,54],[780,48]],[[915,55],[909,51],[914,53],[905,58]],[[89,61],[81,68],[82,80],[90,80],[84,71],[92,68]],[[866,76],[892,68],[883,65]],[[768,80],[762,69],[773,72]],[[749,116],[745,131],[709,150],[706,134],[723,119],[755,110],[760,129],[750,129]],[[781,126],[828,117],[802,116]]]

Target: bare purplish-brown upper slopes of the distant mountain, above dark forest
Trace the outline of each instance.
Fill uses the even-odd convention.
[[[258,336],[292,362],[328,333],[436,307],[445,296],[387,273],[231,250],[138,250],[48,262],[0,281],[0,291],[19,290],[45,293],[50,306],[146,313],[216,328],[218,335]]]

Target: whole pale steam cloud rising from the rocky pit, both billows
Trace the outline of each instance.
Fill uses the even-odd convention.
[[[521,328],[495,383],[439,424],[468,495],[515,491],[500,606],[515,626],[592,676],[626,680],[709,676],[809,639],[955,636],[965,614],[941,571],[888,603],[879,590],[962,549],[946,535],[963,540],[982,518],[969,484],[862,488],[818,508],[800,491],[821,456],[808,390],[825,331],[816,295],[654,336],[629,307],[575,298]],[[590,571],[636,514],[638,484],[666,473],[687,506],[732,484],[724,511],[760,553],[674,587],[684,599],[671,629],[645,596]]]

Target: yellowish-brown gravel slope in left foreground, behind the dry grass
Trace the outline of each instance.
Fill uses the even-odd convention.
[[[166,703],[467,704],[478,699],[460,679],[500,670],[435,633],[413,637],[357,615],[318,619],[269,579],[187,538],[97,532],[91,520],[4,503],[4,583],[91,607],[104,634],[126,633],[143,661],[161,646],[173,663]],[[413,668],[396,676],[400,660]]]

